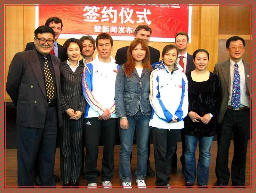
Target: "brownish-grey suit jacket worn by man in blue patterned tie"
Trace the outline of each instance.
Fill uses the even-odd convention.
[[[250,65],[249,63],[246,63],[244,61],[243,63],[244,63],[246,93],[248,96],[250,96],[250,90],[249,90]],[[220,105],[220,114],[218,117],[218,122],[221,123],[228,106],[228,99],[229,99],[229,92],[230,92],[230,60],[228,59],[225,62],[215,64],[213,73],[217,74],[220,77],[220,83],[221,83],[221,89],[222,89],[222,101]]]

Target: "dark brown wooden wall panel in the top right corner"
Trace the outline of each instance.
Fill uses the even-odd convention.
[[[219,34],[250,34],[250,6],[220,6]]]

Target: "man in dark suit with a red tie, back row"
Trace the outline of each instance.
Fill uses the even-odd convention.
[[[175,34],[175,46],[179,50],[177,63],[181,65],[184,69],[183,72],[185,74],[190,73],[191,71],[195,70],[195,64],[193,62],[193,56],[188,54],[187,47],[188,47],[188,34],[186,32],[179,32]],[[182,165],[182,172],[184,168],[184,150],[185,150],[185,136],[184,136],[184,128],[180,130],[181,134],[181,145],[182,145],[182,155],[180,156],[180,162]],[[176,151],[172,156],[172,173],[176,173],[177,171],[177,147]]]

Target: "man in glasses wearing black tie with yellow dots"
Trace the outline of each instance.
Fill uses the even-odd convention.
[[[34,186],[38,155],[42,186],[56,186],[55,146],[62,125],[60,59],[50,54],[55,33],[51,27],[35,30],[35,49],[17,53],[10,64],[6,91],[16,110],[18,186]]]

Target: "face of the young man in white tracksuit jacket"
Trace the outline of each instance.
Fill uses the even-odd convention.
[[[99,39],[97,45],[97,51],[100,58],[110,58],[111,51],[113,50],[109,39]]]

